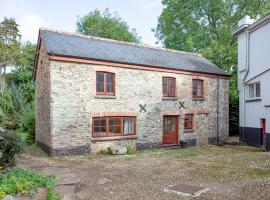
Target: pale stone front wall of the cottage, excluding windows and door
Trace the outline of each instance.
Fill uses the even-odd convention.
[[[134,112],[137,117],[139,148],[162,144],[163,116],[179,116],[179,139],[190,144],[204,145],[213,142],[217,135],[218,79],[148,70],[109,67],[51,61],[51,147],[63,149],[85,148],[92,151],[108,146],[111,141],[92,142],[92,117]],[[96,71],[115,73],[115,97],[96,96]],[[176,98],[162,98],[162,77],[176,78]],[[192,78],[204,80],[204,99],[192,99]],[[219,135],[228,137],[228,80],[219,82]],[[37,90],[40,88],[38,87]],[[179,110],[179,101],[185,108]],[[39,102],[41,103],[41,102]],[[146,104],[147,112],[139,112],[139,104]],[[184,131],[184,115],[193,113],[193,132]],[[126,140],[128,141],[128,140]]]

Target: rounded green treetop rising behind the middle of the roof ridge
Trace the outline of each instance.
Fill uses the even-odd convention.
[[[106,9],[103,13],[94,10],[82,18],[78,18],[77,32],[126,42],[140,42],[136,30],[130,29],[118,14],[112,15],[109,9]]]

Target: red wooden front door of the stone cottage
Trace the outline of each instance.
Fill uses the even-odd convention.
[[[178,116],[164,116],[163,144],[178,144]]]

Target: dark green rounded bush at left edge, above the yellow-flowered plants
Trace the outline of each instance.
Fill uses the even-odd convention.
[[[0,132],[0,165],[13,164],[16,153],[21,152],[20,137],[13,131]]]

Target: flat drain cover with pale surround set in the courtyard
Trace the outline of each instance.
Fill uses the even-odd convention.
[[[183,197],[198,197],[207,191],[209,191],[209,188],[187,184],[170,185],[169,187],[164,188],[164,192],[175,193]]]

